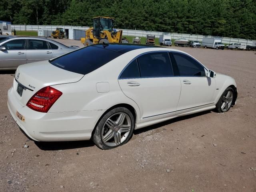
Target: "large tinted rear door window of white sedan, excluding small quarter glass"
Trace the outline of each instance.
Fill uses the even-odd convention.
[[[142,77],[172,76],[168,52],[148,53],[138,57]]]

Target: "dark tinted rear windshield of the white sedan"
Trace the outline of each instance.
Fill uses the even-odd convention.
[[[88,46],[50,60],[56,67],[79,74],[88,74],[110,62],[122,53],[96,46]]]

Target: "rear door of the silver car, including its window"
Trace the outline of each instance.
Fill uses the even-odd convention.
[[[52,50],[47,41],[28,39],[27,63],[49,60],[52,58]]]

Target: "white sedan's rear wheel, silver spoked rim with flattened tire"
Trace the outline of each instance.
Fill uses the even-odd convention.
[[[128,142],[134,130],[134,116],[124,107],[106,113],[98,123],[93,141],[101,149],[112,149]]]

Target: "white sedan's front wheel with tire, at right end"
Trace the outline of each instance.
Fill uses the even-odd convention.
[[[216,104],[217,112],[227,112],[232,106],[233,99],[234,90],[231,87],[228,87],[220,97],[218,103]]]

